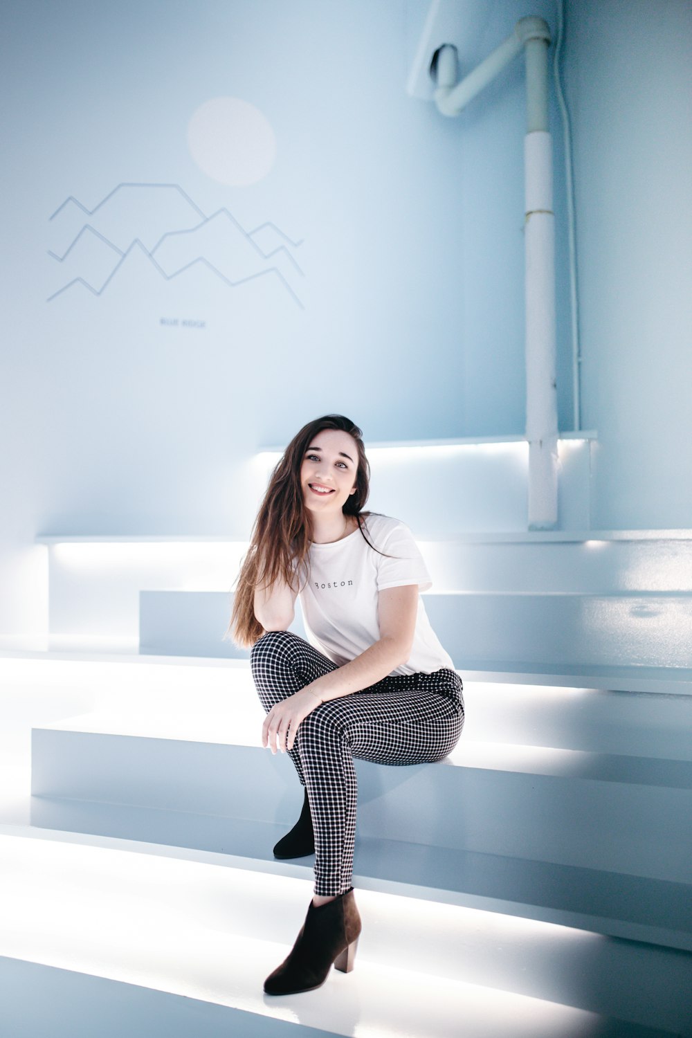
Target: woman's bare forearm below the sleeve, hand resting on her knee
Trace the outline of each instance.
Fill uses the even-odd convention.
[[[379,639],[349,663],[272,707],[261,730],[262,745],[269,746],[273,754],[277,749],[282,753],[293,749],[298,726],[321,702],[338,700],[368,688],[406,663],[411,655],[417,612],[417,584],[381,591],[378,596]]]

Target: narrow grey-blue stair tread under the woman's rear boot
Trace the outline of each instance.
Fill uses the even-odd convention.
[[[31,822],[36,829],[159,845],[164,853],[228,855],[284,875],[312,873],[311,857],[274,858],[271,848],[285,831],[274,822],[59,797],[32,797]],[[692,884],[684,882],[364,837],[356,841],[355,876],[360,886],[692,950]]]

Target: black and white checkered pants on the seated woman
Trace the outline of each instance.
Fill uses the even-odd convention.
[[[252,676],[265,710],[336,670],[303,638],[269,631],[253,646]],[[314,893],[345,893],[352,885],[356,837],[353,758],[379,764],[441,761],[464,726],[462,681],[453,671],[407,674],[331,700],[300,725],[289,752],[307,789],[314,828]]]

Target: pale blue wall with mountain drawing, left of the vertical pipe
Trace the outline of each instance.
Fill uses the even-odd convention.
[[[515,7],[506,26],[495,12],[490,46]],[[44,608],[35,534],[242,534],[247,459],[315,414],[351,414],[376,440],[522,432],[523,72],[462,132],[406,93],[425,9],[3,6],[2,629],[32,629]],[[276,136],[251,186],[217,183],[188,151],[193,112],[224,95]],[[51,214],[123,182],[177,184],[204,214],[227,207],[247,230],[269,220],[303,240],[304,275],[289,258],[282,270],[304,308],[274,277],[229,290],[197,265],[165,282],[137,250],[103,295],[78,283],[47,302],[75,277],[101,286],[115,255],[87,235],[51,257],[87,219]],[[151,249],[195,219],[175,192],[121,191],[90,222]],[[219,245],[185,242],[184,261]]]

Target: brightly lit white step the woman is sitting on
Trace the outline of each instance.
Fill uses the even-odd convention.
[[[619,680],[602,676],[597,685],[593,675],[577,685],[569,674],[462,673],[463,745],[497,741],[692,760],[692,682],[664,680],[663,671],[639,668],[648,677],[637,680],[635,691],[628,691],[635,681],[627,667]],[[87,712],[108,716],[108,730],[151,737],[203,740],[232,727],[233,741],[245,745],[257,745],[264,719],[247,662],[149,656],[0,653],[0,709],[7,717],[0,730],[5,759],[10,730],[21,729],[28,753],[31,727]]]

